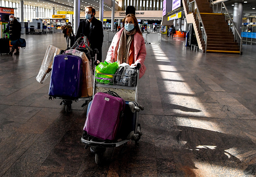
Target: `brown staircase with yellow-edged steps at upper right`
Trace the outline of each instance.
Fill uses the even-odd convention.
[[[229,31],[228,22],[225,21],[223,14],[212,13],[212,8],[210,8],[210,4],[207,0],[196,0],[200,15],[197,14],[197,9],[195,12],[188,13],[187,0],[182,0],[182,2],[186,18],[192,19],[191,15],[193,17],[191,22],[193,23],[198,46],[201,51],[206,53],[240,54],[240,46],[237,42],[234,42],[234,35]],[[203,39],[203,29],[200,28],[199,21],[197,20],[200,18],[197,15],[201,17],[204,25],[207,43],[205,39]]]

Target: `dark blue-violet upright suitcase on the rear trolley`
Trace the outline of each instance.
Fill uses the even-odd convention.
[[[82,59],[74,55],[56,55],[53,60],[49,96],[62,99],[81,97]]]

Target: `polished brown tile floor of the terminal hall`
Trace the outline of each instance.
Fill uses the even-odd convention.
[[[87,107],[48,100],[35,77],[60,33],[22,36],[20,55],[0,56],[1,177],[256,176],[256,46],[243,55],[203,54],[184,39],[147,45],[140,79],[139,145],[109,148],[103,165],[80,142]],[[103,44],[103,58],[110,43]]]

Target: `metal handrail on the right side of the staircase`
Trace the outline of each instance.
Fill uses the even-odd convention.
[[[236,42],[236,33],[237,33],[237,36],[240,38],[240,53],[241,53],[241,51],[242,51],[242,43],[243,43],[242,37],[241,37],[240,33],[238,32],[237,27],[235,26],[234,21],[232,20],[230,14],[228,12],[228,9],[227,9],[227,7],[225,5],[225,3],[223,1],[214,3],[213,0],[210,0],[210,7],[212,6],[212,12],[214,13],[214,5],[216,4],[216,13],[218,13],[218,4],[219,3],[221,3],[221,12],[220,12],[221,14],[222,14],[222,6],[224,6],[224,8],[225,8],[225,21],[227,20],[227,18],[226,18],[227,14],[228,14],[228,17],[230,19],[229,31],[232,31],[231,30],[231,23],[233,24],[233,28],[234,28],[234,31],[233,31],[234,32],[234,42]]]

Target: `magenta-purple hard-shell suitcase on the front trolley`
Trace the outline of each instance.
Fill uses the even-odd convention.
[[[124,110],[124,99],[108,93],[96,93],[84,124],[84,131],[103,140],[115,140]]]

